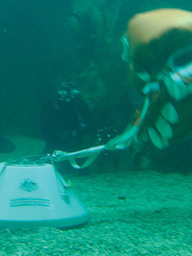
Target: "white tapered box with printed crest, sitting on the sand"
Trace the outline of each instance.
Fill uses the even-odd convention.
[[[51,156],[0,163],[0,227],[72,227],[88,212],[61,177]]]

